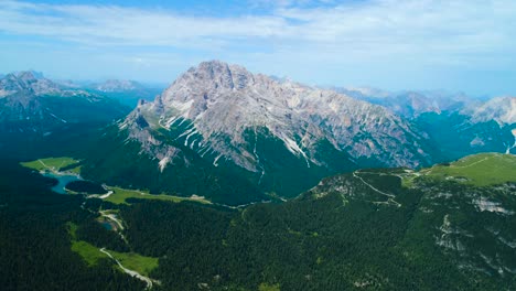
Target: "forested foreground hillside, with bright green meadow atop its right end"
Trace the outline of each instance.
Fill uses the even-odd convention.
[[[159,281],[157,290],[513,290],[514,164],[514,155],[485,153],[421,171],[359,170],[326,177],[288,202],[239,209],[161,196],[128,203],[152,195],[111,188],[110,200],[53,197],[36,216],[31,200],[52,194],[24,198],[25,192],[11,191],[0,203],[0,217],[8,222],[0,227],[9,234],[0,241],[6,250],[0,256],[12,265],[26,254],[54,254],[71,268],[103,274],[94,281],[106,280],[118,290],[128,283],[142,289],[142,281],[131,281],[99,249]],[[37,173],[21,169],[23,183],[46,185]],[[30,208],[22,211],[25,205]],[[14,224],[20,215],[23,220]],[[114,219],[123,228],[103,224]],[[44,248],[31,248],[18,229],[36,236]],[[20,246],[26,251],[17,251]],[[31,266],[47,263],[31,260]],[[72,276],[68,269],[49,268],[58,274],[52,282],[64,284]],[[31,285],[43,280],[40,272],[1,272],[17,282],[32,276]]]

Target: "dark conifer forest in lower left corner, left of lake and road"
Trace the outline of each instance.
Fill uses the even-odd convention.
[[[144,283],[109,260],[94,267],[71,249],[67,222],[88,219],[80,196],[49,191],[52,180],[0,162],[0,285],[2,290],[142,290]],[[85,231],[87,227],[85,227]]]

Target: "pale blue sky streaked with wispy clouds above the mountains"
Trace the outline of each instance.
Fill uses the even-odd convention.
[[[0,0],[0,73],[171,83],[222,60],[310,85],[516,95],[514,0]]]

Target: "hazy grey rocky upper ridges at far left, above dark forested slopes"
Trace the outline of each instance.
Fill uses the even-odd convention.
[[[111,99],[65,88],[42,74],[20,72],[0,79],[0,120],[7,131],[43,132],[69,122],[110,121],[125,112]]]

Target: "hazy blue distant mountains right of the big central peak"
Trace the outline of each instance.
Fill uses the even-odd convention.
[[[510,97],[485,100],[441,90],[390,93],[374,88],[335,88],[356,99],[386,107],[429,134],[436,161],[516,148],[516,103]]]

